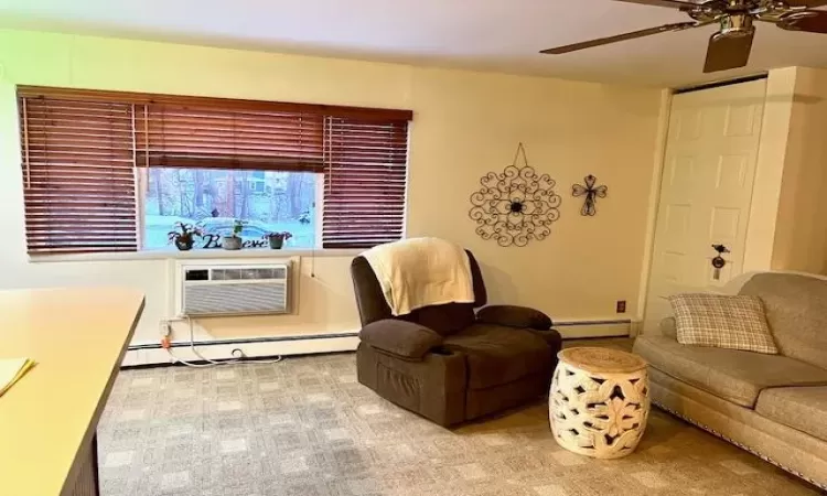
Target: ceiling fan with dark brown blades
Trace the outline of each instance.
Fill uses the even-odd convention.
[[[615,36],[544,50],[540,53],[559,55],[606,45],[651,34],[684,31],[718,24],[720,29],[709,39],[705,73],[743,67],[750,58],[753,21],[771,22],[787,31],[827,34],[827,11],[812,10],[827,6],[827,0],[614,0],[645,6],[666,7],[686,12],[694,21],[665,24]]]

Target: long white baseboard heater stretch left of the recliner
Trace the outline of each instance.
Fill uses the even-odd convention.
[[[358,346],[359,338],[357,335],[336,335],[331,337],[301,336],[289,339],[276,338],[272,341],[254,341],[254,342],[219,342],[219,343],[201,343],[196,345],[198,353],[210,359],[226,359],[233,357],[234,349],[240,349],[248,357],[265,357],[276,355],[308,355],[315,353],[336,353],[353,352]],[[186,362],[198,362],[201,358],[193,354],[190,344],[175,344],[171,348],[172,353]],[[132,367],[137,365],[161,365],[172,364],[174,360],[170,354],[158,347],[144,347],[129,349],[121,362],[121,367]]]

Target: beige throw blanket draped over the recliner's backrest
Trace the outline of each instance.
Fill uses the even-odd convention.
[[[444,303],[473,303],[471,265],[462,247],[439,238],[410,238],[362,254],[394,315]]]

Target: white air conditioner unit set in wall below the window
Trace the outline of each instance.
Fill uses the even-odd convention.
[[[180,265],[178,313],[182,316],[288,313],[289,263]]]

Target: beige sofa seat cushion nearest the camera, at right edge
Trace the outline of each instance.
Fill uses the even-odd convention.
[[[827,387],[764,389],[755,403],[755,411],[827,441]]]

